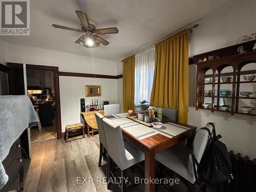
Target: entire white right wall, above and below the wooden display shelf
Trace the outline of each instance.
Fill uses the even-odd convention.
[[[256,32],[256,2],[236,1],[197,22],[199,27],[190,36],[189,55],[208,52],[237,44],[238,37]],[[247,50],[249,51],[249,50]],[[188,123],[202,127],[207,122],[217,123],[217,133],[228,150],[256,158],[256,118],[253,116],[207,110],[196,111],[196,66],[189,66]]]

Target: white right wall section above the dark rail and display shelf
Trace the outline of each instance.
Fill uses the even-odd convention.
[[[239,0],[194,22],[199,26],[190,36],[190,56],[235,45],[240,36],[255,33],[255,9],[255,0]]]

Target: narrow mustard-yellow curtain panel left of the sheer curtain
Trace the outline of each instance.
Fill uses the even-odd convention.
[[[123,59],[123,112],[134,110],[135,55]]]

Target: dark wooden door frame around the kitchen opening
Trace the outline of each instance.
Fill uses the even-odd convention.
[[[54,73],[54,89],[55,89],[55,106],[57,111],[57,139],[61,139],[61,114],[60,114],[60,94],[59,94],[59,68],[54,66],[40,66],[40,65],[30,65],[26,64],[26,70],[43,70],[43,71],[53,71]]]

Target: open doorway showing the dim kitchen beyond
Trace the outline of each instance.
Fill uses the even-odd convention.
[[[58,67],[26,64],[27,90],[40,123],[31,128],[31,142],[61,139]]]

